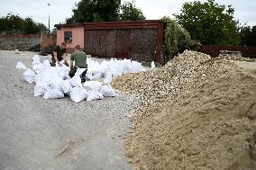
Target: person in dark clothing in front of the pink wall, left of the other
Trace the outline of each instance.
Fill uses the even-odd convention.
[[[62,42],[60,44],[60,46],[56,46],[54,49],[53,49],[53,52],[52,52],[52,63],[51,63],[51,66],[56,66],[56,62],[58,63],[59,66],[62,66],[61,65],[61,61],[63,60],[63,63],[69,67],[69,63],[67,62],[66,58],[67,58],[67,53],[66,53],[66,43],[65,42]]]

